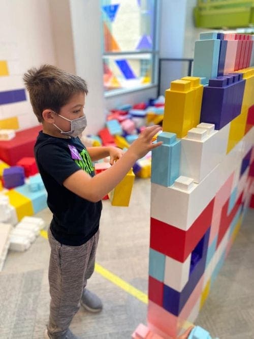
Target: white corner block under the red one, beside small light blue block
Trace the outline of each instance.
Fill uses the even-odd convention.
[[[181,292],[189,279],[191,254],[182,263],[166,256],[164,284]]]

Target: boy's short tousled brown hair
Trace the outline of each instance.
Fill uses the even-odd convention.
[[[85,80],[52,65],[31,68],[24,74],[23,80],[39,122],[43,121],[44,109],[59,113],[74,94],[88,93]]]

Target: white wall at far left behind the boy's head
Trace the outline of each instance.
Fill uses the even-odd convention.
[[[55,64],[48,0],[2,0],[0,3],[0,59],[9,76],[0,76],[0,91],[24,88],[22,75],[30,67]],[[38,124],[27,101],[0,105],[0,119],[18,117],[20,129]]]

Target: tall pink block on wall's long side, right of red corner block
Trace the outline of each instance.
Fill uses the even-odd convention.
[[[230,175],[230,177],[226,180],[226,182],[223,184],[223,186],[221,186],[221,188],[215,195],[208,246],[212,243],[213,239],[218,233],[221,209],[230,197],[233,179],[234,172]]]

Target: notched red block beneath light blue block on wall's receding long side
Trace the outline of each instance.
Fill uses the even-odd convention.
[[[220,241],[223,239],[225,233],[227,232],[230,224],[232,223],[232,220],[234,219],[237,210],[239,206],[242,203],[242,196],[241,194],[239,198],[237,199],[234,208],[231,210],[231,212],[228,214],[228,208],[229,208],[229,199],[227,200],[226,204],[221,209],[221,217],[220,217],[220,223],[219,223],[219,231],[218,231],[218,240],[216,244],[216,249],[218,245],[220,244]]]

